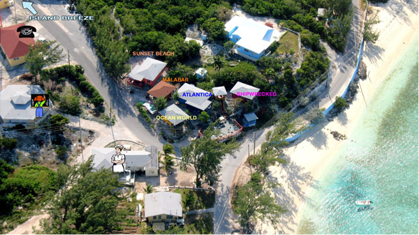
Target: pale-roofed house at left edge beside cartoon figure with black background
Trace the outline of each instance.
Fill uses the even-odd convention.
[[[31,108],[31,94],[45,93],[38,85],[8,85],[0,91],[0,123],[30,123],[37,119],[35,109]],[[50,100],[50,107],[52,103]],[[47,116],[50,109],[44,109]]]

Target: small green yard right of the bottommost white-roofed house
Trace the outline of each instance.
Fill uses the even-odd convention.
[[[175,192],[182,194],[182,209],[184,211],[200,210],[214,207],[215,192],[206,190],[191,190],[187,188],[178,188]],[[185,202],[188,195],[193,195],[193,204],[186,209]]]

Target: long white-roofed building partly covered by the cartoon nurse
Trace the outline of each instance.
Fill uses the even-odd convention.
[[[145,172],[145,176],[159,175],[159,158],[156,146],[146,146],[144,151],[121,151],[125,155],[124,169],[133,172]],[[114,148],[92,148],[90,155],[94,156],[95,169],[111,168],[110,158],[115,154]]]

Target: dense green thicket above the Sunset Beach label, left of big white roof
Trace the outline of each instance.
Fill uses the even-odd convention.
[[[96,52],[112,77],[128,70],[126,62],[133,51],[175,52],[164,56],[170,65],[198,54],[195,41],[184,42],[189,24],[199,24],[213,39],[223,38],[223,20],[230,5],[225,1],[104,1],[76,0]],[[215,4],[216,3],[216,4]]]

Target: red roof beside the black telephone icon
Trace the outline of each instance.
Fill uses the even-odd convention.
[[[35,43],[34,38],[19,38],[17,28],[24,25],[24,23],[20,23],[0,29],[0,44],[8,59],[28,54],[29,45]]]

